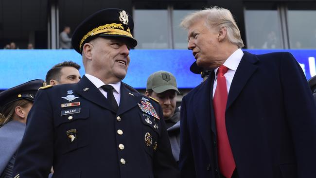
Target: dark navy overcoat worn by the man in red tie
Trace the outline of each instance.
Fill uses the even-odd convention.
[[[220,178],[214,77],[182,99],[181,178]],[[244,52],[225,114],[239,178],[315,178],[316,106],[292,54]]]

